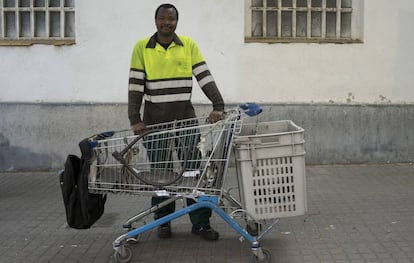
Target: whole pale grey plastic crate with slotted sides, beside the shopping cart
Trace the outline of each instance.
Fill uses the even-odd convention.
[[[244,124],[235,138],[241,199],[255,219],[306,212],[304,130],[292,121]]]

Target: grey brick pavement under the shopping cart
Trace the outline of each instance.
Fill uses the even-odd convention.
[[[308,166],[308,213],[285,218],[262,246],[272,262],[414,262],[414,165]],[[234,169],[230,174],[234,174]],[[113,262],[112,242],[148,197],[110,195],[91,229],[66,226],[56,172],[0,173],[0,262]],[[179,208],[180,204],[177,204]],[[156,231],[131,245],[131,262],[251,262],[249,244],[213,216],[220,240]]]

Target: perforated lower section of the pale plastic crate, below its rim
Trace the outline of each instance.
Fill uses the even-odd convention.
[[[304,156],[270,157],[238,163],[242,201],[256,219],[306,212]]]

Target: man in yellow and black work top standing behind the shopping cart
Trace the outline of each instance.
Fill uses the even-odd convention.
[[[210,122],[223,116],[224,102],[197,44],[175,29],[178,11],[171,4],[162,4],[155,11],[157,32],[134,46],[129,76],[128,116],[135,134],[146,125],[196,117],[191,103],[192,76],[213,104]],[[144,100],[141,119],[140,107]],[[165,198],[153,197],[152,205]],[[191,205],[195,201],[187,199]],[[155,219],[174,212],[175,203],[155,213]],[[211,210],[202,208],[190,213],[191,232],[206,240],[217,240],[219,233],[210,226]],[[171,237],[171,224],[158,228],[160,238]]]

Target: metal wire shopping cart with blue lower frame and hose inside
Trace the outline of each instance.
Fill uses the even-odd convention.
[[[137,241],[141,234],[203,207],[212,209],[242,239],[250,242],[253,262],[270,262],[270,252],[263,249],[259,241],[278,222],[277,213],[258,216],[255,207],[263,202],[277,202],[279,205],[283,201],[263,196],[263,191],[273,193],[270,184],[274,178],[266,179],[269,182],[266,189],[256,186],[257,183],[261,184],[261,179],[253,179],[250,183],[246,181],[250,179],[238,180],[240,198],[231,195],[232,189],[225,186],[233,146],[236,149],[236,163],[240,163],[237,165],[237,174],[241,174],[241,170],[256,174],[256,163],[247,164],[248,159],[251,159],[249,156],[252,155],[252,147],[248,143],[249,135],[238,138],[238,134],[243,131],[243,114],[253,116],[260,112],[257,105],[246,104],[240,109],[228,111],[223,120],[213,124],[208,123],[205,117],[186,119],[149,126],[141,135],[133,135],[129,130],[124,130],[115,132],[110,138],[90,141],[94,152],[88,179],[90,192],[169,197],[127,220],[123,225],[126,233],[113,242],[114,258],[117,262],[130,261],[132,251],[127,244]],[[247,133],[252,132],[251,130]],[[256,159],[262,158],[259,156]],[[248,171],[247,167],[255,171]],[[293,184],[293,177],[286,180],[289,180],[288,184]],[[253,188],[250,186],[252,182],[255,185]],[[292,186],[289,187],[288,191],[293,191]],[[251,191],[254,195],[259,192],[261,195],[253,205],[247,202],[250,197],[246,193]],[[276,195],[273,193],[272,197]],[[145,223],[144,218],[147,216],[184,198],[194,199],[196,203]],[[296,202],[290,198],[290,203]],[[249,209],[245,209],[246,204]],[[263,207],[259,207],[260,209]],[[265,208],[266,211],[267,209]],[[133,227],[136,223],[141,223],[141,226]]]

